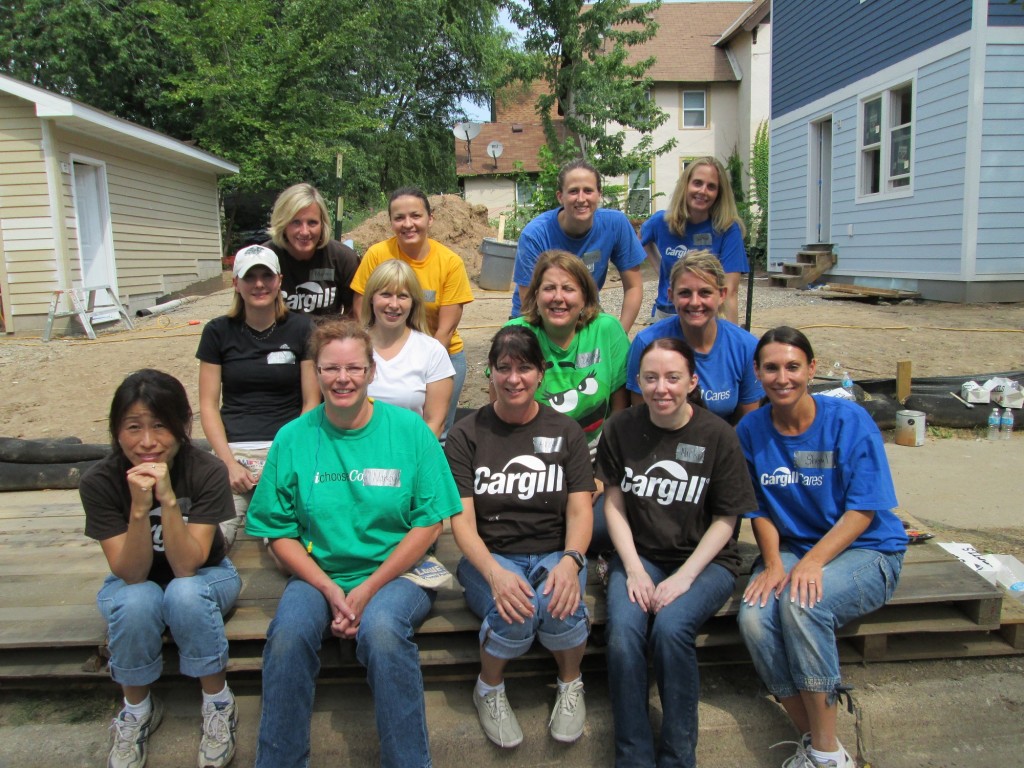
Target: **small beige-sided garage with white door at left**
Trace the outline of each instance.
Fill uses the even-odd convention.
[[[134,311],[219,274],[217,178],[238,170],[0,75],[3,331],[40,331],[56,290],[109,285]]]

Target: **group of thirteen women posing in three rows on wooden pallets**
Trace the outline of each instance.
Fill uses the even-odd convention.
[[[545,226],[586,243],[600,177],[575,163],[562,183]],[[720,166],[691,165],[680,186],[682,225],[718,231],[714,204],[731,200]],[[272,243],[236,258],[228,315],[204,329],[201,418],[214,456],[189,444],[181,385],[141,371],[115,394],[113,454],[82,480],[86,534],[111,566],[97,599],[124,690],[109,766],[145,761],[165,629],[181,672],[202,683],[200,767],[231,760],[223,616],[241,586],[227,557],[241,524],[290,577],[267,633],[256,764],[308,764],[318,651],[334,636],[354,639],[367,668],[381,764],[429,766],[414,634],[436,594],[444,520],[481,622],[472,700],[490,741],[524,738],[505,670],[535,640],[557,665],[551,736],[583,734],[583,596],[588,553],[602,552],[615,765],[693,766],[696,636],[733,593],[741,516],[761,557],[739,626],[801,734],[785,765],[853,766],[836,737],[835,633],[892,595],[906,538],[881,435],[858,406],[811,395],[806,337],[778,328],[757,341],[719,317],[728,272],[690,249],[667,273],[675,314],[631,345],[633,310],[603,313],[592,271],[602,259],[629,270],[632,257],[547,249],[520,284],[521,316],[492,342],[492,402],[453,426],[466,369],[457,327],[472,294],[462,262],[428,237],[428,201],[392,196],[395,237],[368,251],[342,300],[362,325],[314,324],[288,310],[284,288],[293,241],[331,250],[319,243],[326,207],[298,187],[279,199],[292,218],[271,227]],[[656,738],[648,664],[665,713]]]

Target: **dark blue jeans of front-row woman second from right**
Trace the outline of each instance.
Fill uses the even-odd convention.
[[[671,573],[641,558],[655,585]],[[630,600],[626,568],[615,555],[608,569],[608,688],[615,727],[615,768],[670,768],[696,765],[696,636],[700,627],[729,599],[735,577],[711,563],[690,589],[662,608],[645,613]],[[662,698],[662,736],[657,750],[648,717],[647,656]]]

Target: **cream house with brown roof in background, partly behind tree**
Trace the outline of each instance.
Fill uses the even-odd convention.
[[[667,208],[680,173],[695,158],[712,155],[725,162],[736,151],[749,170],[754,134],[768,119],[770,10],[769,0],[756,0],[666,3],[653,12],[657,34],[631,48],[629,56],[633,61],[655,59],[648,73],[654,81],[650,97],[669,120],[654,132],[654,145],[675,139],[676,146],[651,168],[605,179],[628,189],[631,215]],[[534,103],[540,87],[546,86],[537,84],[518,98],[496,99],[496,122],[485,123],[473,141],[471,165],[460,146],[464,142],[456,141],[456,174],[466,200],[486,205],[492,215],[507,211],[516,200],[513,165],[522,163],[527,173],[539,167],[537,151],[544,134]],[[513,130],[534,140],[517,142]],[[627,147],[640,138],[627,131]],[[505,144],[497,168],[485,156],[490,139]]]

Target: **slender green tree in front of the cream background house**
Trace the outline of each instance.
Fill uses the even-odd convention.
[[[621,176],[649,167],[654,157],[675,146],[654,146],[651,132],[668,120],[653,99],[647,71],[653,58],[629,62],[629,48],[657,32],[651,11],[660,0],[631,5],[628,0],[505,0],[512,20],[523,31],[526,55],[515,61],[512,78],[543,79],[550,93],[538,99],[548,146],[555,162],[583,157],[605,175]],[[557,104],[567,137],[563,141],[550,117]],[[641,134],[626,150],[626,131]]]

